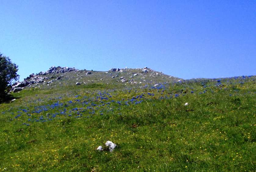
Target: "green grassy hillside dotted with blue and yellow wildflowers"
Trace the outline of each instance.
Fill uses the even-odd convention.
[[[255,76],[104,73],[64,73],[0,104],[0,171],[256,170]],[[108,140],[113,152],[96,150]]]

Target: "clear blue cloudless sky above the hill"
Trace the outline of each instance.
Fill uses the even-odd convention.
[[[256,74],[256,1],[0,0],[0,52],[20,80],[50,66]]]

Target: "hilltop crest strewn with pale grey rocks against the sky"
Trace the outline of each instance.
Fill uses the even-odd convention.
[[[52,86],[56,84],[62,84],[57,82],[58,80],[65,81],[65,84],[87,84],[90,83],[128,83],[128,84],[157,84],[161,82],[175,82],[179,81],[180,78],[166,75],[162,72],[155,71],[148,67],[144,68],[112,68],[106,72],[93,71],[93,70],[78,70],[70,67],[56,67],[52,66],[45,72],[32,73],[24,81],[16,82],[12,85],[14,92],[21,91],[25,87],[34,87],[38,85]]]

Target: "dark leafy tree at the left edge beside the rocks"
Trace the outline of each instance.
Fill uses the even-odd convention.
[[[0,52],[0,102],[6,98],[11,84],[19,79],[17,71],[18,66]]]

